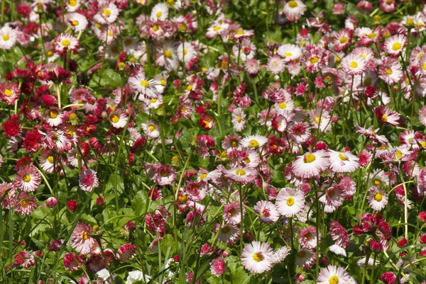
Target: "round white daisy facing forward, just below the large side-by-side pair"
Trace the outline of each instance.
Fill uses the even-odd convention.
[[[285,217],[293,217],[305,206],[305,195],[296,188],[283,188],[275,201],[278,212]]]

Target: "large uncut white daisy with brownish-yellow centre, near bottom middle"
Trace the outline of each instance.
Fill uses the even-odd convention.
[[[273,266],[273,250],[266,243],[246,244],[241,254],[241,263],[251,273],[263,273]]]

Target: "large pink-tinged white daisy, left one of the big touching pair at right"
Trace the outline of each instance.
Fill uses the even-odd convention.
[[[320,176],[321,172],[329,166],[329,154],[320,150],[296,157],[292,164],[293,174],[300,178]]]

